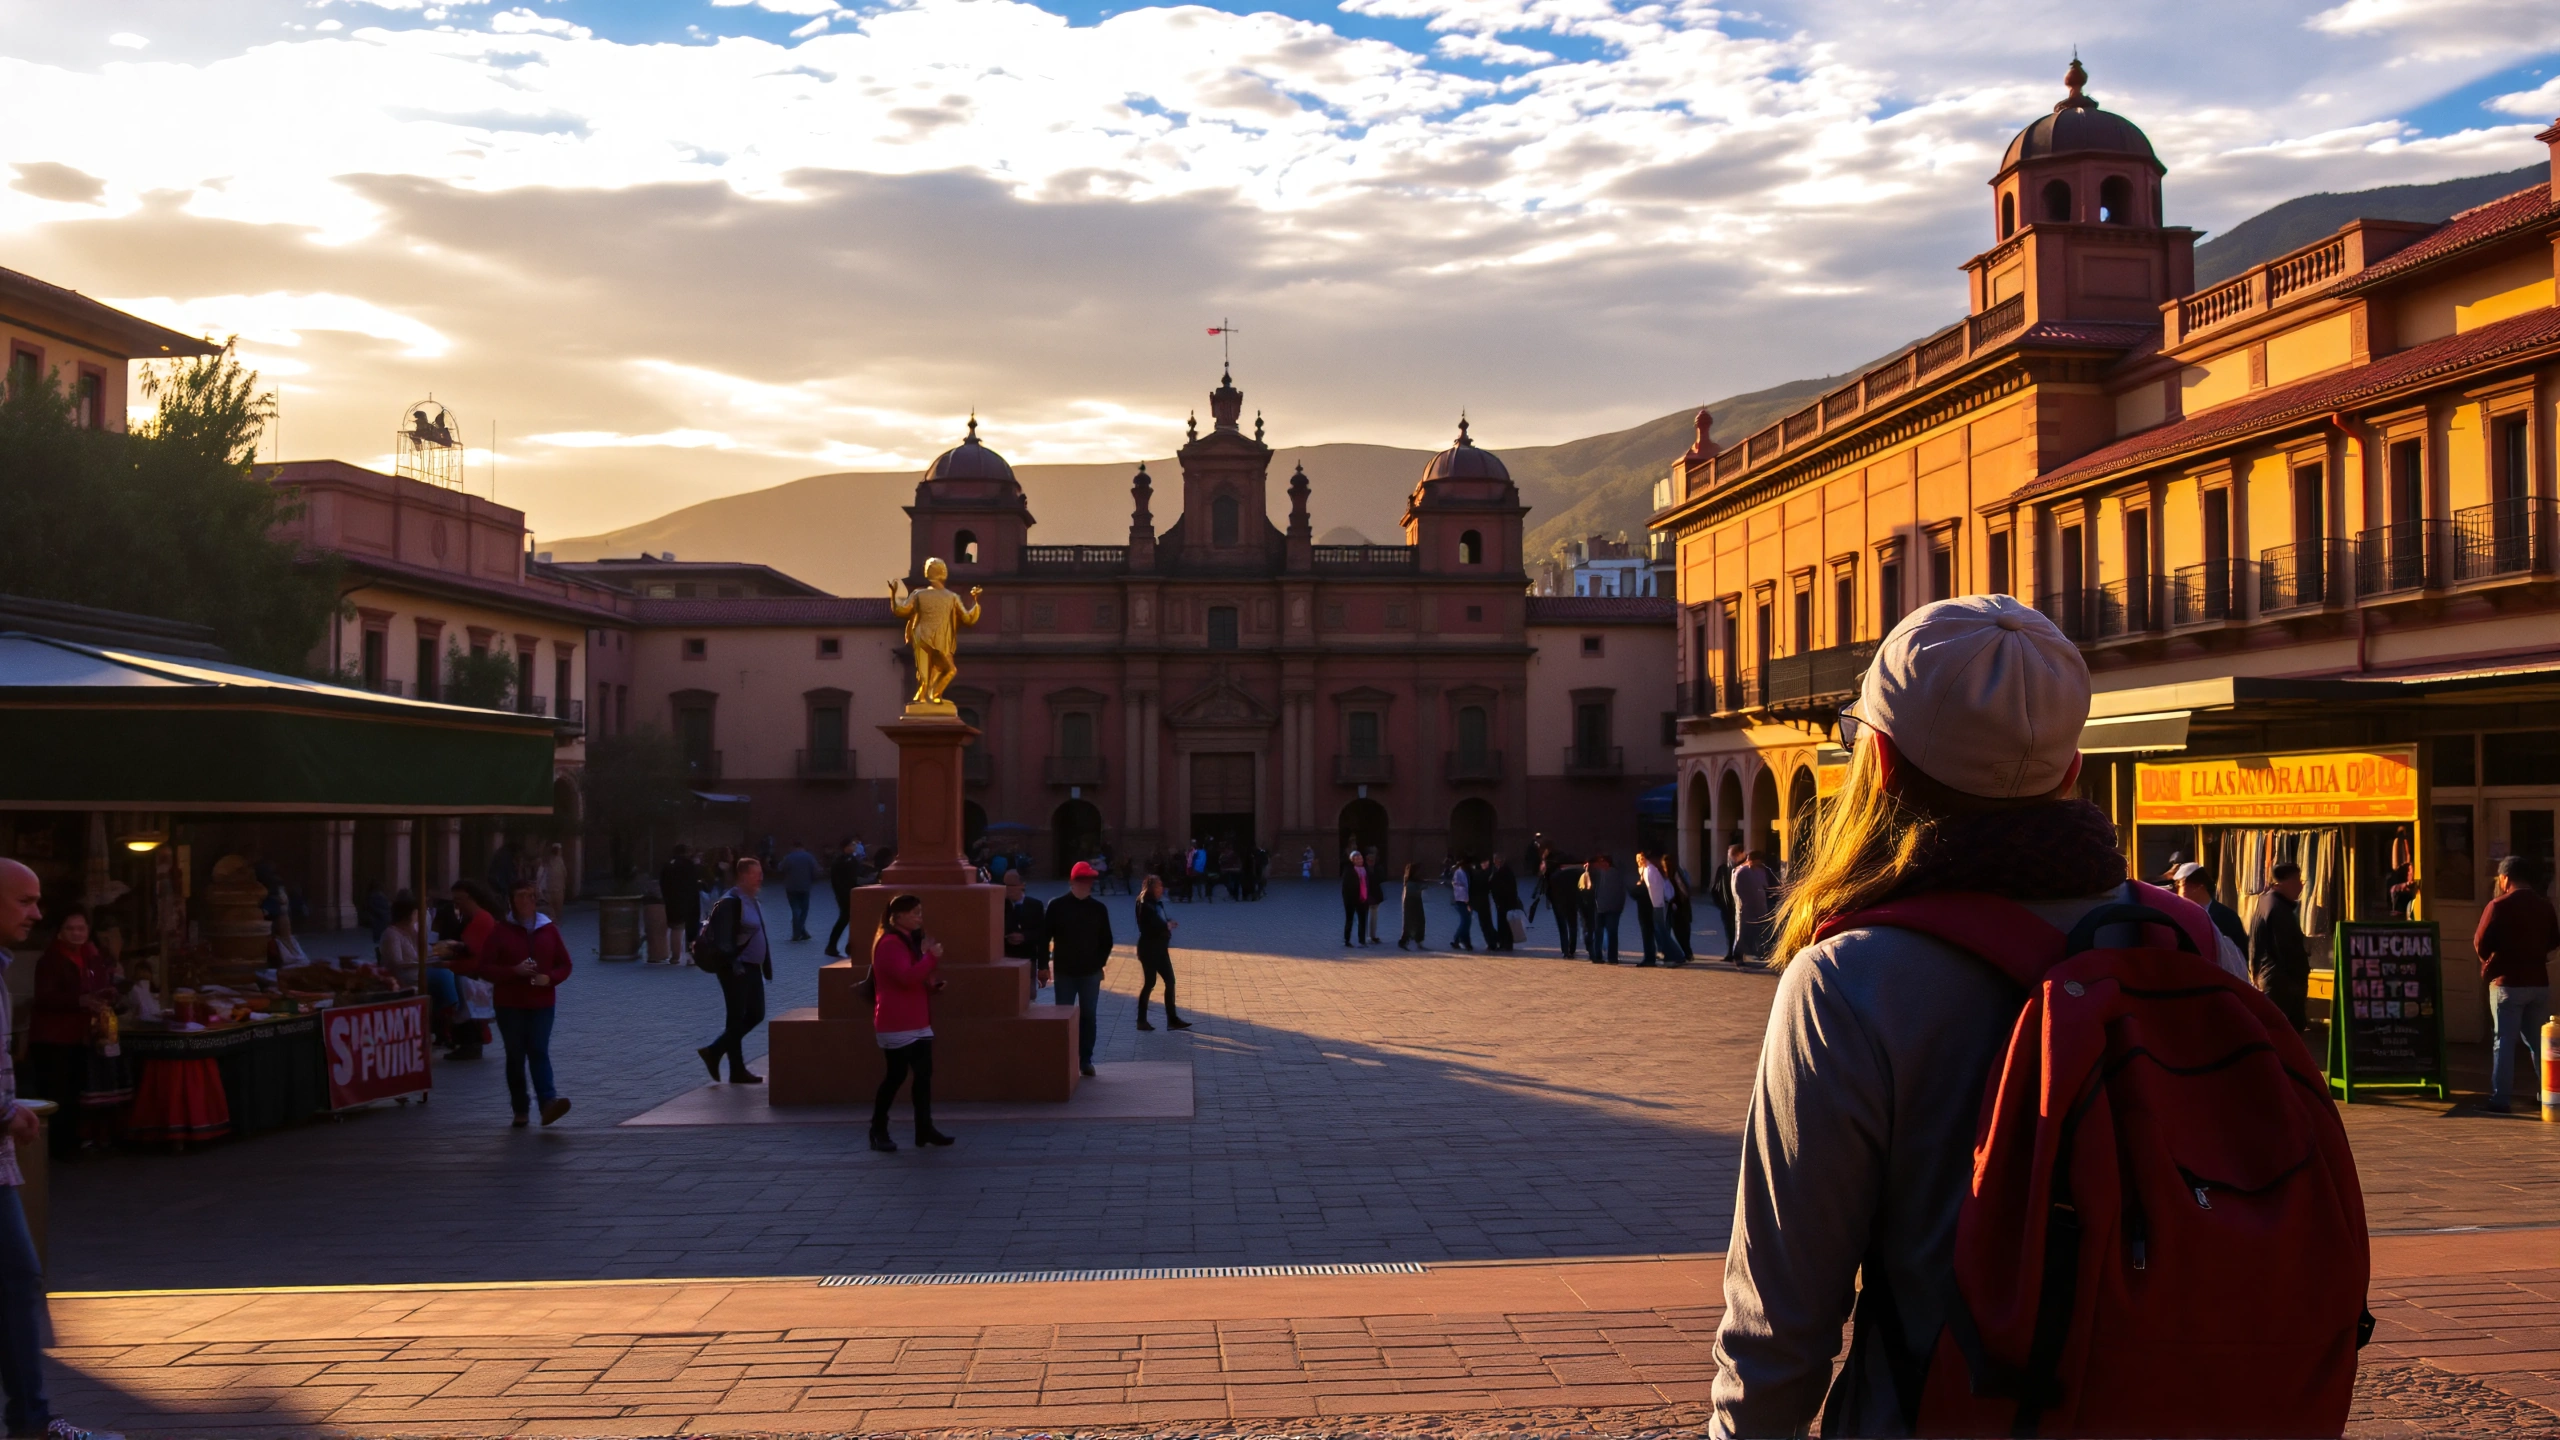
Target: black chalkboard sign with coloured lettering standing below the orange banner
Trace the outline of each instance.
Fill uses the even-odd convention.
[[[2330,1092],[2445,1094],[2445,971],[2432,922],[2337,925]]]

